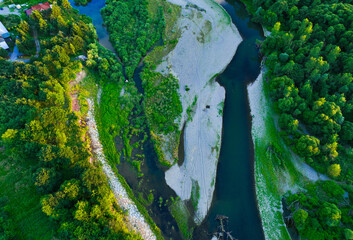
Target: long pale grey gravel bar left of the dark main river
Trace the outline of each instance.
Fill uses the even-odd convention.
[[[225,90],[216,82],[233,58],[242,38],[227,12],[212,0],[170,0],[182,7],[181,37],[156,71],[179,80],[184,126],[184,161],[165,173],[181,200],[196,195],[194,221],[200,224],[212,202],[222,134]],[[168,146],[165,138],[163,144]],[[168,147],[162,147],[168,151]],[[169,156],[168,152],[164,153]],[[172,159],[166,159],[173,163]],[[195,193],[197,191],[197,193]]]

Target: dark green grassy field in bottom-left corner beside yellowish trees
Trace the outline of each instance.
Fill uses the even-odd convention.
[[[9,230],[15,239],[52,239],[57,226],[42,212],[30,169],[28,162],[0,153],[0,196],[7,200]]]

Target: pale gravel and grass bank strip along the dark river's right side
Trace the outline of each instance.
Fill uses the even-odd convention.
[[[282,216],[282,196],[279,189],[279,169],[266,156],[269,144],[280,144],[274,125],[273,109],[266,96],[264,74],[261,72],[255,82],[247,86],[250,113],[252,117],[251,135],[254,144],[254,178],[257,206],[260,213],[265,239],[288,239],[289,233]],[[282,146],[284,147],[284,146]],[[283,149],[281,149],[283,150]],[[285,177],[283,173],[282,177]],[[288,177],[288,176],[287,176]],[[291,176],[287,181],[292,180]],[[293,180],[292,180],[293,181]],[[292,186],[293,187],[293,186]],[[294,188],[294,187],[293,187]]]

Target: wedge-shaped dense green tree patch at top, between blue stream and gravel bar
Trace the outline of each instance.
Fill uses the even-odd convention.
[[[131,78],[141,57],[162,37],[163,11],[159,8],[158,14],[152,16],[146,0],[108,0],[102,16],[126,75]]]

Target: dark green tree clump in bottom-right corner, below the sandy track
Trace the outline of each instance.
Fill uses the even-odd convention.
[[[300,235],[304,239],[344,239],[346,229],[352,227],[352,207],[343,197],[343,188],[333,181],[317,182],[307,188],[306,193],[287,197]]]

